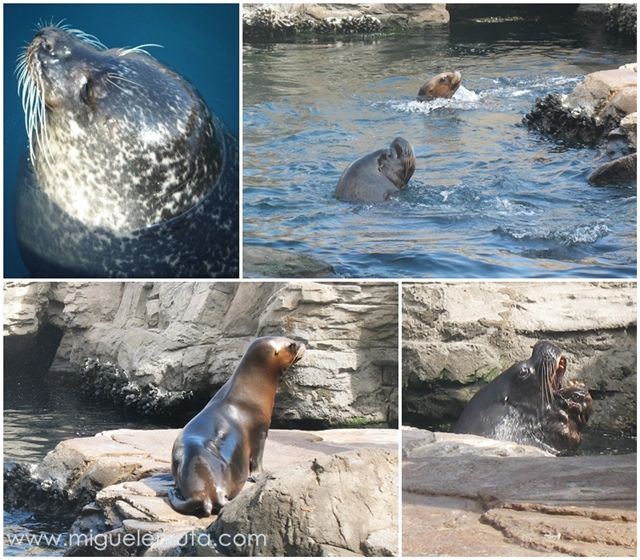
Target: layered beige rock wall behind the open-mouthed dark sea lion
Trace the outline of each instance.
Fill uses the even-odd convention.
[[[590,426],[634,432],[636,288],[624,282],[405,283],[406,421],[457,419],[541,338],[565,352],[566,380],[589,388]]]

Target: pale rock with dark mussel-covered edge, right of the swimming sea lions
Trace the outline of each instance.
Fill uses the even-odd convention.
[[[587,74],[567,96],[536,100],[523,123],[569,144],[596,145],[636,111],[635,65]]]

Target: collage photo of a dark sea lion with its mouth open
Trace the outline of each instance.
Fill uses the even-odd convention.
[[[402,306],[403,554],[635,556],[636,283],[413,283]]]

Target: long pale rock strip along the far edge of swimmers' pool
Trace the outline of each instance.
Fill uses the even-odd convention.
[[[245,37],[375,33],[445,24],[444,4],[245,4]]]

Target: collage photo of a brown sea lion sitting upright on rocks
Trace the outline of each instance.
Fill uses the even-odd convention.
[[[7,283],[4,309],[5,556],[398,554],[396,284]]]

